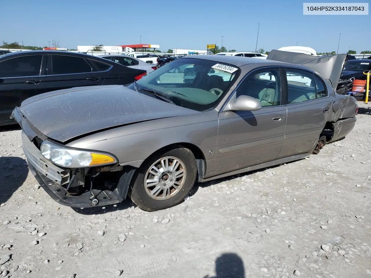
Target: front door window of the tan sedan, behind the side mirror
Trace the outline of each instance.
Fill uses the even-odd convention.
[[[264,106],[281,104],[281,84],[278,69],[261,69],[250,73],[236,90],[241,95],[254,97]]]

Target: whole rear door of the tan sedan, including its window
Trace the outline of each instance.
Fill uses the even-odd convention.
[[[285,140],[278,158],[309,152],[326,124],[331,100],[322,79],[306,70],[283,68],[287,99]]]

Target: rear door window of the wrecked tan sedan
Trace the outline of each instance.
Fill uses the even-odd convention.
[[[324,83],[313,73],[300,69],[286,69],[285,72],[289,104],[326,96]]]

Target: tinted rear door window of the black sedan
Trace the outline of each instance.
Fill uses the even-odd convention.
[[[92,72],[91,66],[85,59],[65,55],[52,56],[52,69],[53,75]]]

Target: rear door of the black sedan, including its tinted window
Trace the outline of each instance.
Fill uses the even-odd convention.
[[[62,54],[48,55],[46,92],[72,87],[98,86],[103,83],[103,76],[88,62],[88,59]]]

